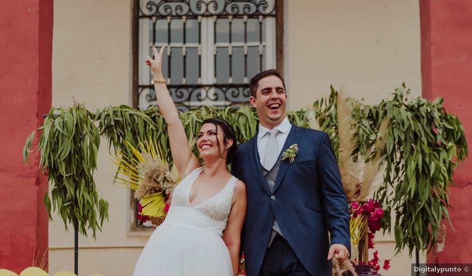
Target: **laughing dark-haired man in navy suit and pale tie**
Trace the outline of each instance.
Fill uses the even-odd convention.
[[[250,90],[259,131],[239,147],[232,164],[248,194],[242,234],[246,273],[331,275],[331,258],[348,258],[350,239],[347,200],[329,137],[290,123],[285,83],[276,70],[253,77]],[[292,145],[298,151],[288,150]],[[293,162],[281,160],[284,152]]]

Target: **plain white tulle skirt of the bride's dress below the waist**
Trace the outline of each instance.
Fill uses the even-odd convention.
[[[143,249],[133,276],[230,276],[229,251],[221,237],[163,223]]]

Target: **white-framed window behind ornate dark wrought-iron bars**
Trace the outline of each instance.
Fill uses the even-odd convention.
[[[135,106],[156,104],[144,57],[161,46],[167,46],[163,73],[178,109],[248,102],[251,77],[278,65],[280,6],[276,0],[135,0]]]

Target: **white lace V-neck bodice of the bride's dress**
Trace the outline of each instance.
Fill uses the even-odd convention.
[[[238,179],[231,177],[216,195],[192,207],[189,201],[190,188],[202,171],[203,167],[195,169],[177,185],[164,223],[221,236],[226,228],[234,187]]]

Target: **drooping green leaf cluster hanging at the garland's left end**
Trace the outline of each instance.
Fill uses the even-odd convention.
[[[53,115],[54,112],[58,114]],[[72,223],[85,236],[87,229],[92,230],[94,238],[96,230],[101,231],[104,219],[108,220],[108,202],[98,199],[93,181],[100,146],[95,119],[81,104],[67,109],[53,107],[37,129],[41,135],[36,148],[40,152],[40,167],[43,172],[47,170],[52,187],[53,210],[57,209],[66,230]],[[29,161],[28,153],[34,151],[31,148],[35,133],[36,130],[26,140],[25,161]],[[52,220],[48,194],[44,195],[44,204]]]

